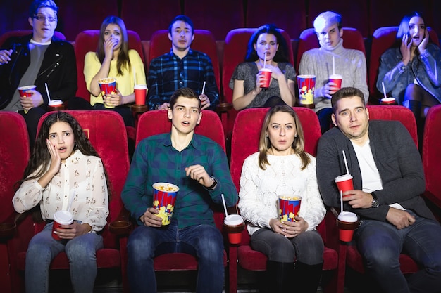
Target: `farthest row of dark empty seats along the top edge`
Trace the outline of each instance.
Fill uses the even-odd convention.
[[[275,23],[297,39],[303,30],[312,26],[316,15],[328,10],[340,13],[344,25],[356,27],[364,38],[371,36],[378,27],[398,25],[411,11],[423,12],[428,25],[441,31],[437,15],[441,4],[435,0],[273,0],[271,4],[263,0],[95,0],[94,5],[87,0],[77,0],[57,1],[57,4],[60,6],[57,30],[68,40],[75,39],[83,30],[98,28],[108,15],[123,18],[128,29],[138,30],[142,39],[149,39],[156,30],[168,27],[168,22],[178,14],[192,18],[194,27],[213,32],[216,40],[225,39],[232,29],[259,27],[263,23]],[[0,33],[26,30],[28,5],[26,1],[2,4]]]

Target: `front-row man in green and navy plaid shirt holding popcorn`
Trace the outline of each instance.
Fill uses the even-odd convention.
[[[154,256],[185,252],[197,256],[197,292],[223,290],[223,236],[211,204],[234,206],[237,190],[221,145],[194,134],[202,118],[201,100],[188,88],[170,98],[171,131],[144,138],[135,150],[121,194],[138,227],[128,240],[130,292],[156,292]],[[153,205],[156,182],[178,185],[171,223],[163,226]]]

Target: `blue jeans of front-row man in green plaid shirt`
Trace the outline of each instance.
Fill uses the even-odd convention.
[[[198,260],[197,292],[222,292],[223,236],[216,226],[178,228],[178,221],[161,228],[137,227],[128,240],[130,292],[156,292],[154,256],[172,252],[192,254]]]

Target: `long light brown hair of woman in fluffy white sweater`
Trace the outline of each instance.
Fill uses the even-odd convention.
[[[271,148],[271,141],[270,138],[266,136],[266,131],[270,124],[271,117],[277,112],[288,113],[294,118],[297,137],[294,138],[291,148],[294,150],[294,154],[299,155],[300,159],[302,160],[301,170],[304,170],[311,162],[311,158],[305,152],[305,138],[299,116],[297,116],[297,113],[294,112],[294,110],[288,105],[277,105],[271,108],[270,110],[268,110],[268,112],[266,112],[265,119],[263,119],[261,136],[259,139],[259,167],[262,170],[265,170],[266,165],[269,165],[267,154],[269,148]]]

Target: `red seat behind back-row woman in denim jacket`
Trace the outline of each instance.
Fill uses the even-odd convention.
[[[398,21],[399,22],[399,21]],[[398,23],[397,22],[397,23]],[[388,48],[391,48],[397,36],[398,27],[380,27],[373,32],[371,55],[369,60],[368,89],[370,93],[369,101],[378,104],[378,98],[383,98],[383,93],[377,89],[378,68],[380,58]],[[440,46],[440,41],[434,30],[429,28],[430,41]]]

